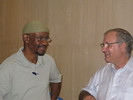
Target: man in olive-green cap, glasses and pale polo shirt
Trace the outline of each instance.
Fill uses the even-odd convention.
[[[0,67],[0,100],[56,100],[61,74],[54,59],[45,54],[51,41],[49,30],[43,23],[32,21],[22,33],[24,47]]]

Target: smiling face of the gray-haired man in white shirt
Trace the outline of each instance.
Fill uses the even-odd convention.
[[[111,31],[105,35],[103,43],[114,43],[108,46],[102,47],[102,52],[105,55],[105,61],[110,63],[119,62],[120,58],[123,55],[122,43],[115,43],[117,41],[117,33],[115,31]],[[107,45],[107,44],[106,44]]]

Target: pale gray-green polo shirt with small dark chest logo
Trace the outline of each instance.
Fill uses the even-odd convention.
[[[0,100],[51,100],[49,83],[61,82],[54,59],[45,54],[34,64],[22,49],[0,66]]]

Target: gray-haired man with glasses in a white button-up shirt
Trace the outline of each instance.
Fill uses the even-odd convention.
[[[122,28],[111,29],[101,47],[107,64],[82,89],[79,100],[133,100],[133,37]]]

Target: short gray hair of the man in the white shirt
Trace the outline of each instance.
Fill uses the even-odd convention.
[[[117,41],[121,43],[126,43],[126,51],[128,56],[131,56],[131,52],[133,49],[133,37],[131,34],[122,28],[115,28],[115,29],[110,29],[107,32],[104,33],[104,35],[107,35],[109,32],[115,31],[117,32]]]

